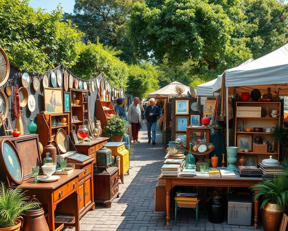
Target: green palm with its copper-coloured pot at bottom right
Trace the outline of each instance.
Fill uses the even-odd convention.
[[[288,180],[285,175],[274,175],[251,187],[255,192],[253,200],[263,198],[262,223],[264,231],[278,231],[283,213],[288,206]]]

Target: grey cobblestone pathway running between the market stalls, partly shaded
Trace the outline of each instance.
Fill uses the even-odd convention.
[[[161,144],[161,133],[157,128],[156,145],[147,143],[146,126],[139,132],[141,143],[134,143],[130,175],[125,175],[124,184],[119,180],[119,198],[114,199],[111,208],[96,204],[94,211],[88,211],[80,220],[81,231],[252,231],[254,226],[228,225],[210,223],[207,215],[200,211],[198,226],[195,215],[179,210],[177,225],[173,225],[174,217],[171,214],[170,226],[165,226],[165,212],[154,210],[154,188],[157,176],[161,172],[165,151]],[[65,231],[73,229],[66,228]],[[258,228],[257,230],[263,230]]]

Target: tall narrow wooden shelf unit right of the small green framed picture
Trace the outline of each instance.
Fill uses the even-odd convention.
[[[74,103],[73,94],[76,94],[75,100],[80,100],[78,105],[71,106],[71,127],[72,124],[76,126],[76,132],[80,125],[88,125],[88,90],[72,89],[71,92],[71,102]],[[86,100],[86,101],[85,101]],[[73,116],[77,116],[79,121],[73,121]]]

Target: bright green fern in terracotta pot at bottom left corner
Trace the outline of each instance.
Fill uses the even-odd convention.
[[[7,188],[3,182],[0,186],[0,231],[19,231],[22,227],[25,210],[38,208],[38,202],[28,201],[20,188]]]

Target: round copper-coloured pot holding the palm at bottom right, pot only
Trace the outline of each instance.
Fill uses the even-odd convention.
[[[276,204],[267,202],[262,208],[264,231],[278,231],[285,211],[286,209],[277,208]]]

